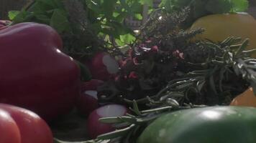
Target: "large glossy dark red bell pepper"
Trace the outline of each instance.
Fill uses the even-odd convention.
[[[32,110],[47,121],[68,112],[80,93],[80,69],[62,46],[45,24],[0,30],[0,103]]]

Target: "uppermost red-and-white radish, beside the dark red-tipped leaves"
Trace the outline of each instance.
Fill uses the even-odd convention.
[[[93,79],[108,80],[119,71],[119,64],[105,52],[100,52],[93,56],[88,65]]]

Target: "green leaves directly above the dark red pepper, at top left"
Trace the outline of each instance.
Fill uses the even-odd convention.
[[[9,18],[13,24],[27,21],[48,24],[60,34],[70,29],[67,12],[60,0],[35,0],[35,3],[32,3],[28,9],[10,11]]]

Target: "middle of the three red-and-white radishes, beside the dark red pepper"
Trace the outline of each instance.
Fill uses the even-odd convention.
[[[94,109],[98,108],[97,87],[104,82],[98,79],[91,79],[82,85],[82,93],[78,98],[77,108],[81,114],[88,116]]]

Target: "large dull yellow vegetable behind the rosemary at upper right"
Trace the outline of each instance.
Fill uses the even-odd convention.
[[[256,20],[250,14],[212,14],[196,20],[191,29],[204,28],[196,39],[223,41],[229,36],[250,39],[250,48],[256,48]],[[256,54],[253,55],[256,57]]]

